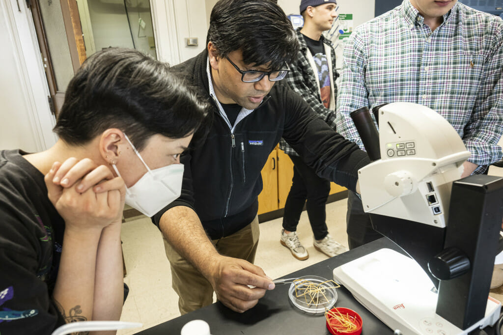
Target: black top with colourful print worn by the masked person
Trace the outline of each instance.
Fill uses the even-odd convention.
[[[0,332],[49,335],[65,323],[50,298],[64,221],[25,153],[0,151]]]

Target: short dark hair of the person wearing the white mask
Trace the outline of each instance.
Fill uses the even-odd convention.
[[[207,103],[167,63],[136,50],[109,48],[89,57],[69,82],[54,132],[82,145],[118,128],[141,150],[154,134],[193,134],[207,115]]]

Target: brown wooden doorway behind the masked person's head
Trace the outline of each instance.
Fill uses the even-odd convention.
[[[49,103],[56,116],[68,82],[95,50],[129,47],[156,58],[148,0],[79,0],[78,4],[76,0],[31,0],[30,4],[49,84]],[[91,27],[92,16],[96,30]],[[87,35],[83,35],[81,22]]]

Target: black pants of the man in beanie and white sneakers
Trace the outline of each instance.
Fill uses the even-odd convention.
[[[314,238],[323,239],[328,234],[325,205],[330,193],[330,182],[318,177],[314,169],[307,166],[299,156],[289,156],[293,161],[293,184],[286,199],[283,228],[288,231],[297,230],[305,204]]]

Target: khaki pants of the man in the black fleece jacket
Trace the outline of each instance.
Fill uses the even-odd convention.
[[[224,256],[254,263],[259,243],[258,216],[241,230],[212,240],[217,251]],[[189,262],[178,254],[164,239],[164,249],[171,265],[172,287],[178,294],[178,308],[182,315],[213,303],[213,287]]]

